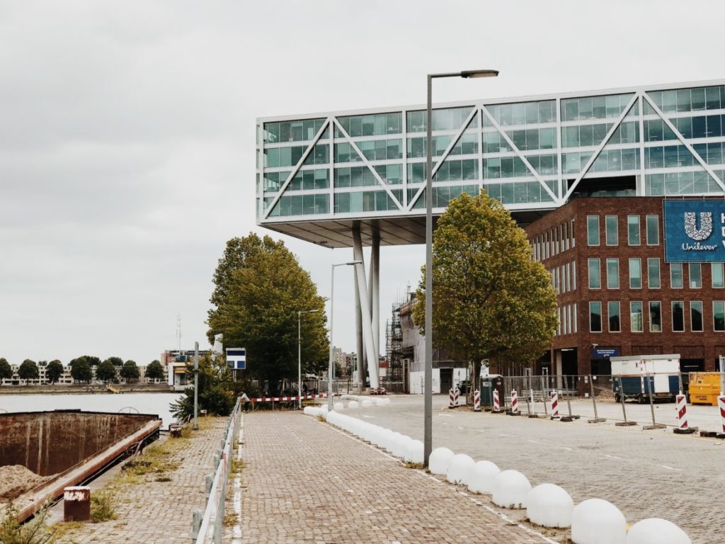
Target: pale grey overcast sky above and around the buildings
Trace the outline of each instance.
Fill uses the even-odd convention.
[[[207,345],[254,219],[254,119],[725,78],[720,1],[0,0],[0,357]],[[329,294],[352,250],[286,243]],[[381,250],[381,324],[423,246]],[[352,275],[336,275],[352,350]],[[381,337],[384,346],[384,334]]]

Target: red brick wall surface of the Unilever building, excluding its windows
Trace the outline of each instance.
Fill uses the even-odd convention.
[[[648,215],[656,216],[656,244],[647,243]],[[588,244],[588,216],[598,217],[599,245]],[[612,244],[612,238],[607,239],[607,216],[616,217],[616,244]],[[639,245],[629,244],[628,216],[639,217]],[[613,221],[610,219],[610,225]],[[654,220],[650,221],[652,226]],[[636,228],[633,226],[632,230],[636,231]],[[608,359],[595,358],[595,345],[597,350],[616,349],[621,355],[679,353],[683,371],[712,371],[716,368],[718,355],[725,355],[725,331],[714,330],[713,324],[713,301],[725,300],[725,288],[713,287],[710,263],[701,265],[700,287],[690,286],[687,263],[682,265],[682,288],[672,287],[672,265],[665,261],[662,198],[575,199],[531,223],[526,227],[526,233],[534,257],[553,274],[552,281],[558,287],[560,329],[552,341],[549,362],[552,374],[609,374]],[[635,272],[629,270],[631,258],[641,260],[641,288],[630,287],[631,273]],[[600,288],[589,287],[589,259],[599,260]],[[618,260],[618,287],[613,284],[608,287],[608,259]],[[650,286],[647,259],[659,260],[660,287],[655,287],[655,281]],[[636,272],[634,276],[636,278]],[[693,279],[696,276],[694,273]],[[673,331],[674,301],[684,303],[684,331]],[[590,330],[589,302],[601,302],[600,332]],[[608,302],[619,303],[618,332],[610,331]],[[634,314],[631,313],[631,302],[642,302],[641,314],[637,312],[636,304]],[[655,323],[650,323],[650,302],[660,302],[660,331],[657,331],[656,306],[653,308]],[[690,302],[702,303],[702,331],[692,330]],[[637,329],[638,315],[642,317],[641,332],[633,331],[633,316],[634,329]],[[695,317],[697,324],[697,315]],[[616,321],[611,323],[614,329]]]

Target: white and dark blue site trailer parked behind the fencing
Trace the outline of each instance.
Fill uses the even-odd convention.
[[[637,400],[640,403],[653,400],[674,402],[679,392],[679,354],[627,355],[612,357],[612,388],[619,402]]]

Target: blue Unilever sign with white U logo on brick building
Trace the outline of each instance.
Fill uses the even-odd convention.
[[[665,260],[725,261],[725,200],[665,200]]]

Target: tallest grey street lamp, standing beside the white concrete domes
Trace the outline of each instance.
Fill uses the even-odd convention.
[[[428,74],[428,110],[426,118],[426,371],[423,405],[423,464],[433,449],[433,79],[434,78],[495,78],[498,70],[465,70]],[[481,151],[479,149],[479,151]]]

